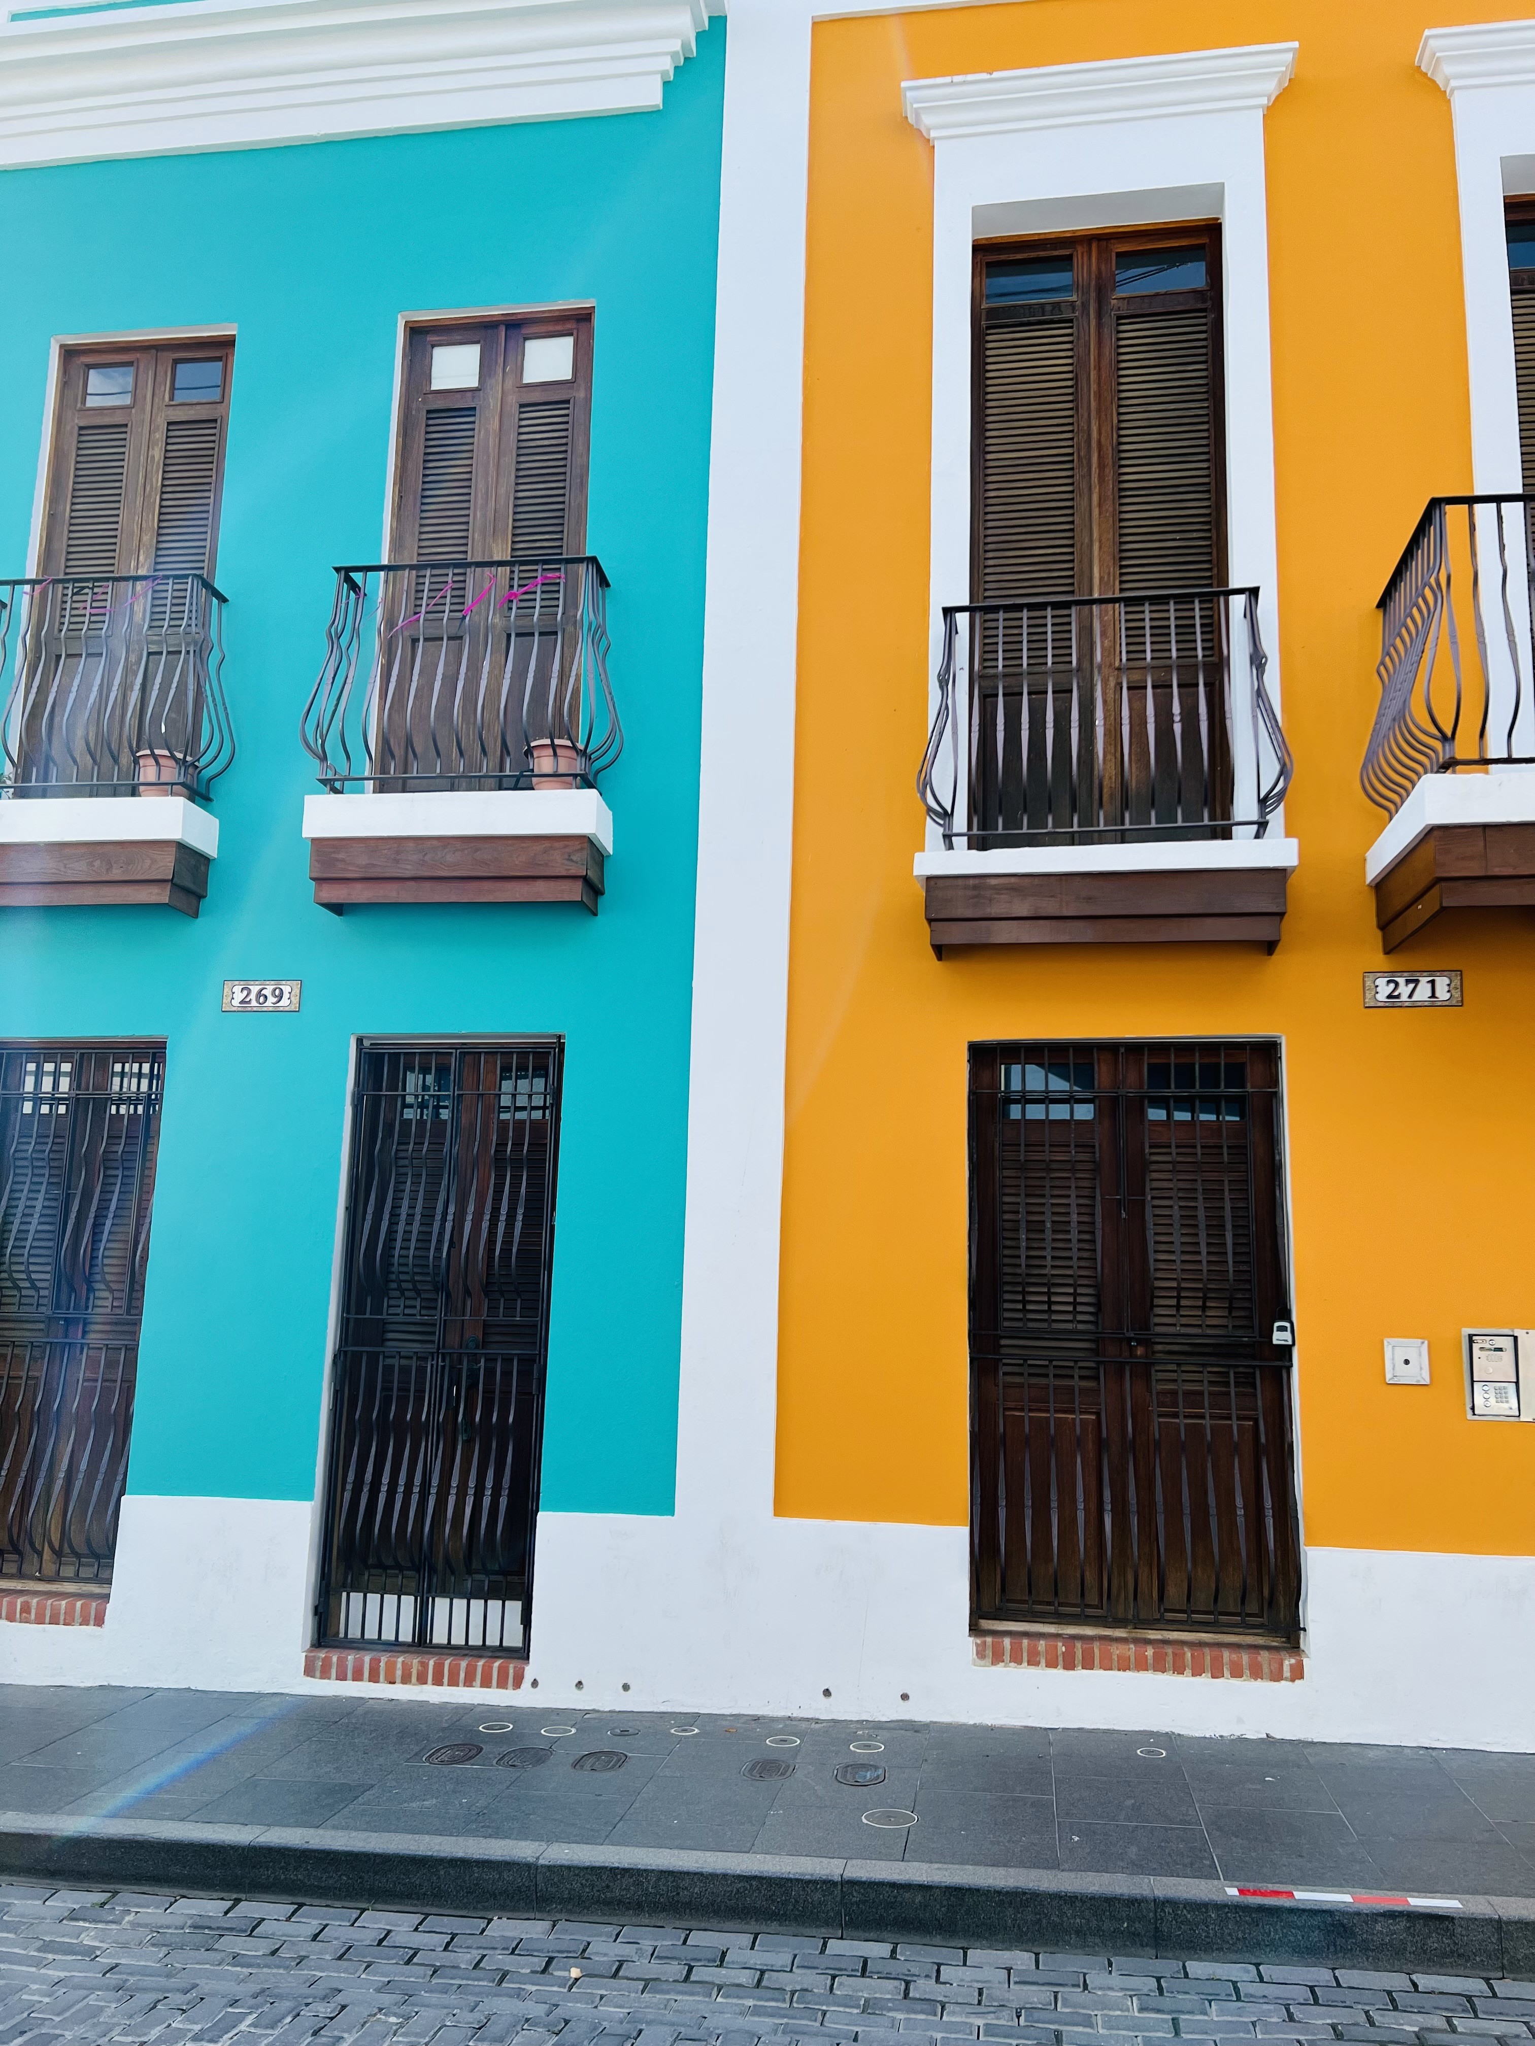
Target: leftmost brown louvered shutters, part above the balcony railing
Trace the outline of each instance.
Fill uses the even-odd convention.
[[[229,342],[63,352],[39,575],[213,575],[231,368]]]

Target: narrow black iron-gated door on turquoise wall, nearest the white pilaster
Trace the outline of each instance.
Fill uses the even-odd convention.
[[[364,1043],[319,1639],[528,1643],[559,1046]]]

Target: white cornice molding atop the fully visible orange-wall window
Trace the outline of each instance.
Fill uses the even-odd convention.
[[[901,100],[907,121],[929,141],[1244,108],[1263,113],[1289,84],[1298,47],[1251,43],[970,78],[909,78]]]

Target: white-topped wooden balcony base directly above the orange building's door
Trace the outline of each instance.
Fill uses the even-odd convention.
[[[1279,943],[1296,839],[923,851],[929,939],[954,945]]]

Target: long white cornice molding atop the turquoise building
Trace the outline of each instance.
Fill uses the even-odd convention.
[[[706,16],[706,0],[184,0],[12,14],[0,25],[0,166],[653,113]]]

